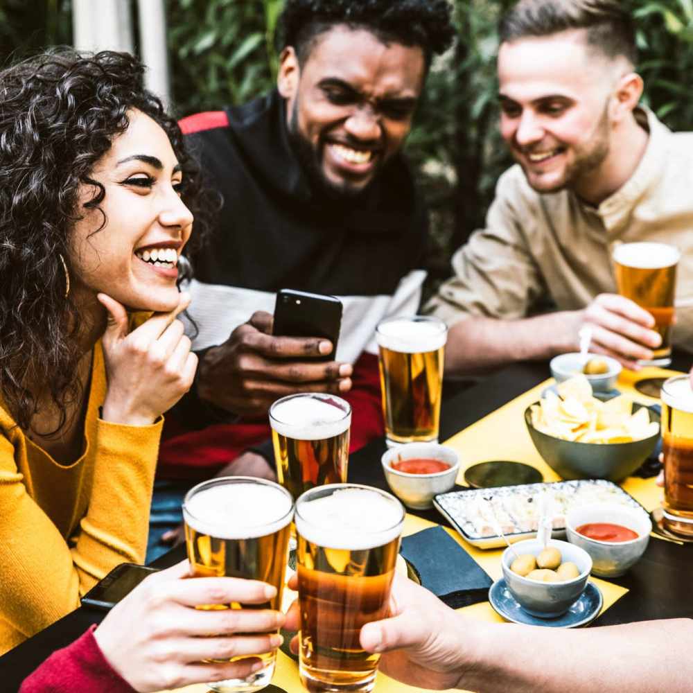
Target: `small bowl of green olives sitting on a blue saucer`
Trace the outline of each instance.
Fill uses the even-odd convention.
[[[540,618],[560,616],[587,586],[590,554],[567,541],[518,541],[503,552],[503,577],[527,613]]]

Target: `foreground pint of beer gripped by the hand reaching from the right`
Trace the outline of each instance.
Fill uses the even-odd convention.
[[[299,675],[311,692],[373,690],[365,624],[387,617],[404,509],[385,491],[330,484],[296,502]]]

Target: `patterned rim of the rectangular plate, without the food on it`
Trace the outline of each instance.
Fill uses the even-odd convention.
[[[491,489],[469,489],[468,491],[448,491],[448,493],[439,493],[433,498],[433,505],[437,511],[447,518],[448,522],[457,529],[457,532],[462,535],[464,541],[467,541],[473,546],[480,549],[497,549],[499,547],[505,546],[505,541],[500,534],[492,534],[490,536],[473,536],[469,534],[464,525],[470,521],[466,514],[460,512],[459,506],[464,506],[465,503],[471,502],[482,496],[483,498],[489,498],[493,495],[512,495],[513,493],[523,493],[523,495],[538,495],[542,491],[547,490],[561,490],[565,488],[570,488],[571,486],[581,486],[582,484],[598,484],[599,486],[605,486],[611,489],[612,492],[622,494],[624,496],[624,505],[630,505],[631,507],[636,507],[641,509],[645,514],[647,510],[640,505],[640,503],[633,498],[630,493],[624,491],[620,486],[614,484],[611,481],[606,481],[604,479],[579,479],[572,481],[554,481],[554,482],[541,482],[538,484],[518,484],[518,486],[498,486]],[[613,488],[612,488],[613,487]],[[453,507],[453,505],[457,507]],[[510,543],[515,543],[516,541],[522,541],[523,539],[534,539],[536,537],[536,531],[530,532],[511,532],[505,535]],[[552,531],[552,536],[554,538],[564,538],[565,537],[565,527],[554,527]]]

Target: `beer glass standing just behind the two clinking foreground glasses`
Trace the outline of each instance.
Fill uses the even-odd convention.
[[[328,394],[295,394],[270,407],[279,483],[298,498],[347,480],[351,405]]]

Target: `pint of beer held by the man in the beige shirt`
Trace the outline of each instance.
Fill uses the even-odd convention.
[[[673,245],[665,243],[622,243],[613,252],[616,283],[620,295],[642,306],[655,319],[662,344],[646,366],[667,366],[672,362],[672,323],[676,265],[681,258]]]

